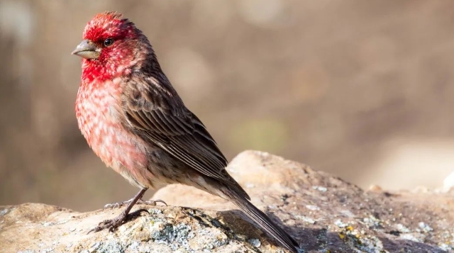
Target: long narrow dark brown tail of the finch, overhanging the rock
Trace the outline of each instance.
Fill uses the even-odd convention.
[[[285,232],[281,227],[277,226],[275,223],[268,218],[268,216],[263,213],[261,210],[256,208],[252,203],[245,199],[240,194],[236,193],[234,190],[228,188],[223,188],[221,190],[230,200],[236,204],[243,212],[248,215],[255,223],[257,223],[262,230],[268,232],[277,242],[280,242],[285,248],[289,249],[290,252],[298,253],[297,247],[299,247],[298,242],[295,241],[287,232]]]

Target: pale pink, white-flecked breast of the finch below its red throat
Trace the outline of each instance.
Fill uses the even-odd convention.
[[[145,152],[139,139],[123,128],[118,81],[102,86],[81,85],[77,94],[76,116],[79,129],[90,147],[108,166],[121,173],[144,166]]]

